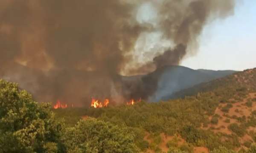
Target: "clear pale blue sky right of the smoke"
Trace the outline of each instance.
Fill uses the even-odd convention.
[[[206,26],[198,53],[181,65],[210,70],[256,68],[256,0],[244,0],[233,16]]]

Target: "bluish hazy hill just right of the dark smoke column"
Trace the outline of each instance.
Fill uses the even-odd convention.
[[[166,65],[148,74],[157,77],[158,86],[153,102],[168,100],[169,96],[182,89],[190,88],[202,82],[209,82],[227,76],[236,71],[193,70],[184,66]]]

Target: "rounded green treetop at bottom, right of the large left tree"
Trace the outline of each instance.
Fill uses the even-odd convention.
[[[61,140],[66,153],[140,152],[134,144],[134,136],[126,128],[90,117],[65,129]]]

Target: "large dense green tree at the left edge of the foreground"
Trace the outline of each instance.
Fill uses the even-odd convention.
[[[50,107],[0,79],[0,153],[57,153],[62,121]]]

